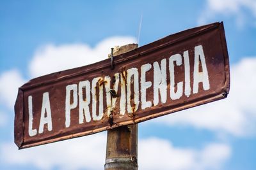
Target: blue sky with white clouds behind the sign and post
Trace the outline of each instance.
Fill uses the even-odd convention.
[[[255,169],[255,11],[253,0],[1,1],[0,169],[103,168],[106,132],[17,150],[15,97],[31,78],[106,59],[110,47],[137,41],[140,20],[140,46],[223,21],[231,65],[227,99],[139,125],[140,168]]]

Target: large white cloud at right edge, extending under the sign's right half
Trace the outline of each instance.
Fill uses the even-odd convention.
[[[255,134],[256,57],[242,59],[231,67],[230,74],[227,99],[157,118],[150,123],[191,125],[234,136]]]

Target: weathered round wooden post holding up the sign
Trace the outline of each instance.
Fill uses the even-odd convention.
[[[138,48],[137,44],[116,46],[113,55]],[[138,124],[116,127],[108,131],[105,170],[138,169]]]

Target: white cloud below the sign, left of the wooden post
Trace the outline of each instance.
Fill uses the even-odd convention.
[[[14,143],[1,145],[5,164],[35,166],[38,169],[102,169],[106,154],[106,133],[18,150]]]

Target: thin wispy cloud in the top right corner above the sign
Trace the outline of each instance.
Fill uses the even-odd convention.
[[[198,18],[198,24],[202,25],[209,20],[216,18],[217,15],[233,16],[236,18],[236,24],[242,27],[246,19],[245,11],[251,13],[256,18],[255,0],[207,0],[202,14]]]

